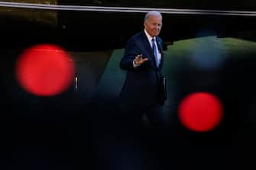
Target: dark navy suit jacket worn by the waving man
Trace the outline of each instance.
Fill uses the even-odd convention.
[[[142,30],[128,40],[125,54],[120,62],[120,67],[127,70],[125,83],[120,93],[120,100],[126,104],[147,107],[160,102],[160,75],[164,64],[163,41],[156,38],[157,47],[161,53],[160,66],[157,68],[154,53],[147,36]],[[134,69],[135,56],[142,54],[148,60]]]

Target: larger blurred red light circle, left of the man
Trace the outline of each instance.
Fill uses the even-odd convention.
[[[56,45],[30,47],[17,60],[16,78],[26,91],[34,95],[58,95],[71,85],[73,76],[70,55]]]

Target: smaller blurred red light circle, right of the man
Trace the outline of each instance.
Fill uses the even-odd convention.
[[[223,117],[219,98],[206,92],[196,92],[186,96],[178,108],[183,126],[196,132],[213,130]]]

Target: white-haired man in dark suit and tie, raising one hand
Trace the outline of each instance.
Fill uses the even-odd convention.
[[[164,101],[160,100],[164,52],[163,41],[157,37],[161,27],[160,12],[147,12],[144,30],[128,40],[120,62],[120,67],[127,71],[119,98],[125,119],[141,123],[141,117],[146,114],[151,126],[157,128],[164,125]]]

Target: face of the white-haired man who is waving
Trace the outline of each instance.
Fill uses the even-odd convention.
[[[146,21],[144,21],[144,28],[151,37],[156,37],[160,34],[162,27],[162,17],[150,15]]]

